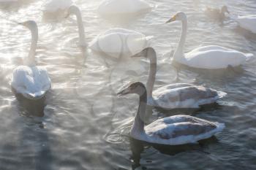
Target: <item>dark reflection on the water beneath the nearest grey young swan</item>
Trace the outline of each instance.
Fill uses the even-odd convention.
[[[132,156],[130,160],[132,162],[132,170],[135,169],[147,169],[146,165],[140,164],[141,153],[147,150],[148,147],[153,147],[155,150],[159,151],[162,154],[174,156],[181,152],[203,152],[204,154],[210,154],[206,152],[204,149],[208,147],[210,144],[216,144],[218,139],[216,136],[212,136],[209,139],[203,139],[198,141],[195,144],[181,144],[181,145],[165,145],[165,144],[151,144],[148,142],[143,142],[137,139],[133,139],[129,137],[130,149],[132,151]],[[150,161],[146,161],[146,163],[150,163]]]

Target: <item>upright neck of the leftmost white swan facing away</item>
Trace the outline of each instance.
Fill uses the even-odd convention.
[[[38,28],[32,28],[31,29],[31,46],[29,50],[29,60],[28,65],[29,66],[35,66],[35,55],[36,55],[36,49],[37,49],[37,40],[38,40]]]

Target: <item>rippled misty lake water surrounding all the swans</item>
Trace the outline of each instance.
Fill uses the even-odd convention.
[[[116,26],[154,36],[151,45],[159,56],[156,87],[175,82],[164,54],[175,49],[181,23],[164,23],[176,11],[188,15],[187,51],[214,44],[256,54],[255,35],[238,28],[230,18],[221,24],[203,14],[206,6],[222,4],[227,4],[231,15],[255,14],[254,0],[149,1],[155,6],[151,12],[122,23],[99,17],[99,2],[75,1],[83,14],[86,42]],[[152,146],[128,136],[138,97],[116,96],[128,82],[146,81],[148,63],[140,58],[116,63],[90,50],[85,58],[78,47],[75,18],[42,21],[42,3],[31,0],[0,9],[0,169],[256,169],[255,61],[234,71],[182,68],[180,82],[228,94],[219,104],[182,112],[225,123],[226,128],[200,144]],[[37,63],[48,69],[53,82],[45,107],[12,94],[12,70],[28,55],[31,39],[26,28],[10,20],[38,23]],[[151,119],[179,113],[154,108]]]

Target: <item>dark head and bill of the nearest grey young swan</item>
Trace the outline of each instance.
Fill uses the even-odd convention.
[[[143,96],[146,94],[146,87],[142,82],[133,82],[128,88],[117,93],[118,96],[124,96],[127,94],[138,94],[139,96]]]

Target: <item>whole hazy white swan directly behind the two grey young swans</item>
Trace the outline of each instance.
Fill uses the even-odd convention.
[[[75,5],[69,7],[65,18],[72,14],[78,20],[79,44],[82,47],[87,47],[82,15],[80,9]],[[124,28],[111,28],[95,37],[89,43],[89,48],[94,52],[119,58],[121,55],[133,55],[143,50],[144,47],[148,47],[151,37]]]

